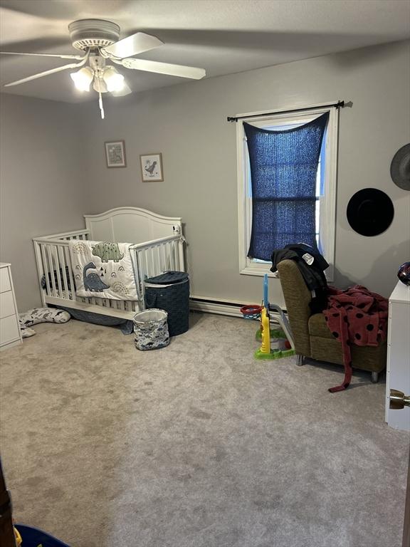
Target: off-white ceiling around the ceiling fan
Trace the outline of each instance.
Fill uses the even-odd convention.
[[[140,58],[199,66],[207,78],[410,37],[408,0],[0,0],[0,6],[3,51],[78,53],[68,24],[108,19],[120,25],[121,38],[145,31],[165,42]],[[95,99],[94,92],[75,90],[69,71],[3,87],[69,62],[1,56],[1,91],[68,102]],[[121,72],[135,92],[186,81]]]

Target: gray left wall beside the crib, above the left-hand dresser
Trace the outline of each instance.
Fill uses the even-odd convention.
[[[19,311],[41,304],[33,236],[83,227],[80,126],[74,105],[0,96],[0,261]]]

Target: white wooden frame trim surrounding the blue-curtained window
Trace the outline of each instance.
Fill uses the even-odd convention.
[[[335,102],[331,104],[335,104]],[[308,109],[309,110],[305,110]],[[302,110],[303,109],[303,110]],[[283,110],[290,110],[283,109]],[[298,107],[298,112],[283,113],[280,110],[263,116],[263,113],[238,114],[246,119],[236,123],[236,150],[238,162],[238,234],[239,234],[239,273],[247,276],[263,276],[270,272],[270,264],[258,263],[249,259],[248,249],[251,241],[252,199],[248,196],[249,159],[246,135],[243,122],[256,127],[286,125],[292,123],[308,123],[321,114],[329,113],[325,142],[325,182],[324,195],[320,198],[319,238],[322,254],[329,263],[325,271],[328,281],[333,281],[335,264],[335,230],[336,230],[336,194],[337,194],[337,137],[339,126],[339,109],[335,107],[315,105]],[[261,115],[262,114],[262,115]],[[257,116],[257,117],[255,117]]]

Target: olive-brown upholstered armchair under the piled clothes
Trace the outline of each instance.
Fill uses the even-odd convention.
[[[310,291],[297,264],[283,260],[277,267],[298,365],[303,365],[305,357],[343,365],[342,345],[327,328],[325,316],[310,311]],[[386,368],[386,354],[386,342],[377,347],[352,345],[352,368],[369,370],[372,382],[377,382],[379,373]]]

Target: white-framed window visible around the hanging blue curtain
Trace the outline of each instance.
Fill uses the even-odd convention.
[[[337,108],[317,108],[298,113],[278,113],[237,122],[238,147],[238,222],[239,222],[239,266],[240,273],[263,275],[268,273],[270,262],[251,259],[247,256],[251,243],[252,226],[252,187],[251,170],[243,121],[267,130],[283,131],[293,129],[329,113],[329,120],[323,136],[320,160],[316,177],[315,232],[317,246],[330,264],[327,278],[332,281],[335,254],[335,204],[337,174]],[[270,254],[273,249],[268,249]]]

